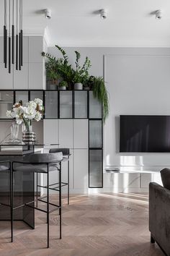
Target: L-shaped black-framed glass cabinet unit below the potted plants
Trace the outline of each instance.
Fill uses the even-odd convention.
[[[40,98],[45,106],[43,119],[88,119],[89,188],[103,187],[102,105],[91,90],[0,90],[0,120],[14,103]]]

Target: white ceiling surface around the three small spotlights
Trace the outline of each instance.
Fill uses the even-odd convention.
[[[50,46],[170,47],[169,0],[23,0],[23,8],[24,33],[40,35],[48,27]],[[41,13],[46,8],[51,20]],[[96,14],[103,8],[106,20]],[[151,15],[156,9],[163,12],[161,20]]]

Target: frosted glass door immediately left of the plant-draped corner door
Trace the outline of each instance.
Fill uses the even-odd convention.
[[[87,118],[87,92],[74,91],[74,117]]]

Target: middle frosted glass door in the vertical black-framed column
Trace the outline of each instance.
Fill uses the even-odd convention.
[[[89,148],[102,148],[102,120],[89,120]]]

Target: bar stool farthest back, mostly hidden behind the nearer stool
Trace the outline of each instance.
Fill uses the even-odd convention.
[[[63,153],[63,162],[67,161],[68,162],[68,166],[67,166],[67,182],[61,182],[61,187],[67,186],[67,202],[68,205],[70,203],[70,149],[69,148],[50,148],[49,153],[58,153],[58,152],[62,152]],[[58,183],[55,183],[56,185],[58,185]],[[54,184],[54,185],[55,185]]]

